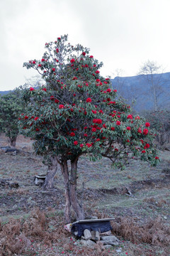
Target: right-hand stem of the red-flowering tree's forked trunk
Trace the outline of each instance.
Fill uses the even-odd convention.
[[[72,207],[77,215],[77,220],[84,220],[84,210],[81,208],[77,198],[77,161],[75,159],[71,162],[71,174],[70,174],[70,201]]]

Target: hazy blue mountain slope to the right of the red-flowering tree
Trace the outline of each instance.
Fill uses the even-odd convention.
[[[112,86],[132,105],[137,112],[154,110],[151,75],[135,75],[132,77],[115,77]],[[156,97],[159,108],[170,108],[170,72],[153,75]],[[134,102],[134,105],[132,104]]]

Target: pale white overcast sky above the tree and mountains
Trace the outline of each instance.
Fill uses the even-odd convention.
[[[37,75],[23,62],[64,34],[103,61],[101,75],[136,75],[147,60],[170,72],[169,29],[170,0],[0,0],[0,90]]]

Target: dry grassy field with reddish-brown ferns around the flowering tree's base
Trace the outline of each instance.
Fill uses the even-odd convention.
[[[162,161],[157,167],[129,159],[123,171],[113,169],[108,159],[90,162],[82,156],[79,160],[78,193],[86,216],[115,218],[113,234],[120,245],[105,250],[100,244],[94,249],[81,247],[64,230],[60,169],[54,189],[35,186],[33,177],[46,174],[47,166],[33,154],[31,143],[19,137],[19,154],[0,152],[0,179],[19,184],[0,186],[1,255],[170,255],[169,151],[159,151]],[[8,143],[1,135],[0,146],[4,145]]]

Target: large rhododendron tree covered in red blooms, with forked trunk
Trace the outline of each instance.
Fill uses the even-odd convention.
[[[81,155],[89,154],[94,161],[105,156],[119,167],[129,152],[152,164],[159,159],[155,159],[154,134],[149,125],[116,99],[110,79],[100,74],[102,63],[89,55],[88,48],[72,46],[67,36],[45,43],[45,48],[41,60],[23,64],[38,70],[45,85],[25,90],[23,98],[29,110],[21,117],[21,129],[34,139],[37,154],[52,156],[60,165],[65,219],[69,223],[71,207],[77,219],[84,218],[77,198],[77,162]]]

